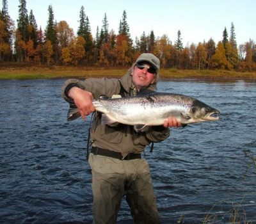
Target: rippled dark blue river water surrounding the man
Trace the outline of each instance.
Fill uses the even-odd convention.
[[[89,122],[67,122],[64,81],[0,81],[0,223],[92,223]],[[162,80],[158,91],[221,111],[147,148],[163,223],[256,223],[256,83]],[[126,202],[118,223],[132,223]]]

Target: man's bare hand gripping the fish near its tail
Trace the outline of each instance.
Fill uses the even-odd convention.
[[[95,111],[92,104],[92,93],[78,87],[73,87],[68,92],[68,97],[74,100],[74,103],[79,109],[79,112],[84,120],[86,120],[87,115],[90,115],[90,113]]]

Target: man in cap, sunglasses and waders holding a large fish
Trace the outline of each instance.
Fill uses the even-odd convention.
[[[143,53],[121,79],[68,79],[62,96],[79,109],[83,119],[93,113],[92,99],[101,95],[130,97],[141,90],[155,90],[160,61],[154,54]],[[160,223],[156,196],[148,163],[141,153],[150,143],[166,140],[169,127],[180,127],[176,118],[166,118],[163,125],[144,127],[139,132],[131,125],[102,124],[95,113],[90,129],[92,149],[93,223],[116,223],[122,197],[125,196],[134,223]]]

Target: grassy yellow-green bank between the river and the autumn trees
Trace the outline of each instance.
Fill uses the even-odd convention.
[[[56,79],[69,77],[121,77],[128,68],[97,67],[2,67],[0,79]],[[252,79],[256,72],[234,72],[226,70],[178,70],[161,69],[160,77],[166,79]]]

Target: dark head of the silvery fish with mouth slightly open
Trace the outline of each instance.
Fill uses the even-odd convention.
[[[193,104],[189,110],[191,123],[219,120],[218,114],[220,114],[218,109],[212,108],[200,101]]]

